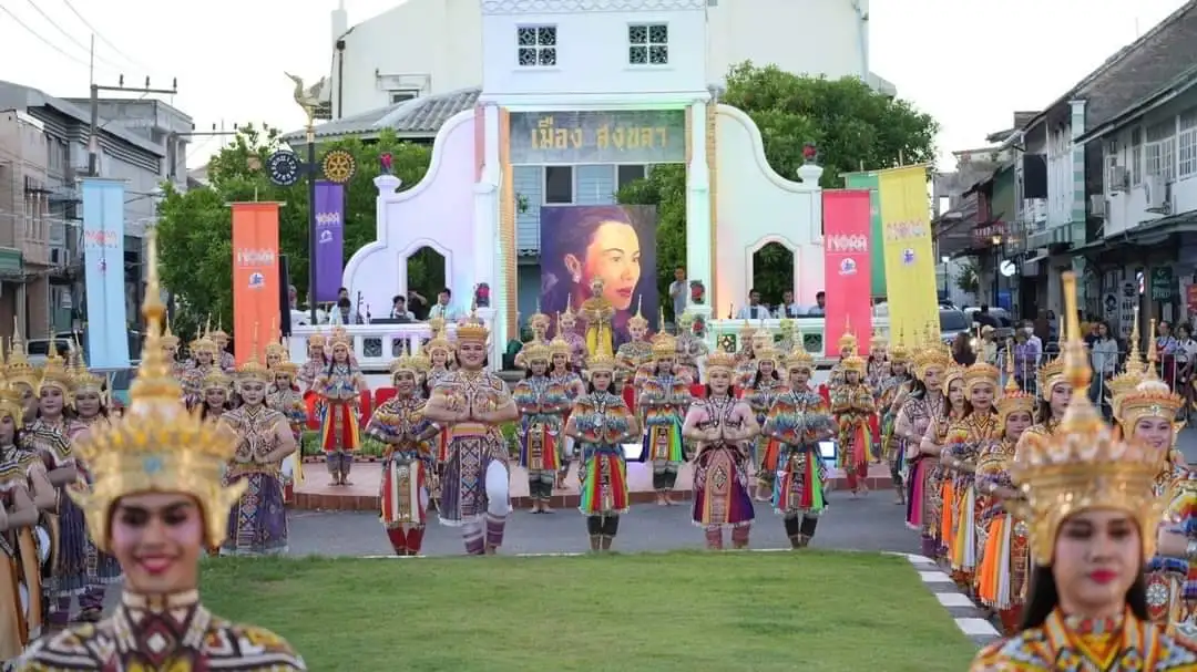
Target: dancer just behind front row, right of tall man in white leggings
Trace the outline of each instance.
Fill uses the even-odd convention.
[[[553,513],[553,483],[561,466],[565,422],[570,408],[569,392],[560,383],[548,378],[548,347],[533,343],[524,350],[528,372],[511,391],[519,409],[516,438],[519,441],[519,465],[528,470],[528,499],[533,513]]]

